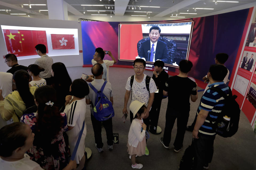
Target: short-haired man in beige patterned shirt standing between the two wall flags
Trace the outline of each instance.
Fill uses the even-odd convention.
[[[46,46],[43,44],[37,44],[35,51],[40,58],[38,58],[34,64],[42,67],[45,71],[39,73],[39,77],[46,80],[47,85],[51,85],[51,65],[53,65],[53,59],[46,54]]]

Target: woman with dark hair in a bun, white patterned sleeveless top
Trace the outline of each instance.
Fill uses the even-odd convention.
[[[41,71],[45,71],[44,68],[39,67],[36,64],[30,64],[28,68],[29,69],[27,71],[29,72],[29,75],[32,76],[32,78],[33,78],[33,80],[31,82],[29,82],[29,84],[31,86],[40,87],[40,86],[46,85],[45,79],[39,77],[39,73]]]

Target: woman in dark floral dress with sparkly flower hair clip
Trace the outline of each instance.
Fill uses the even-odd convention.
[[[54,104],[56,91],[53,87],[41,86],[34,95],[37,112],[21,117],[21,122],[29,125],[35,134],[28,155],[43,169],[63,169],[68,163],[63,138],[63,132],[68,130],[66,114],[60,113]]]

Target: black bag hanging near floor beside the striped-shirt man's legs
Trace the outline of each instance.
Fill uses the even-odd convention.
[[[179,163],[179,170],[192,170],[196,168],[197,156],[195,153],[194,147],[194,138],[192,140],[192,144],[188,146],[181,158],[181,162]]]

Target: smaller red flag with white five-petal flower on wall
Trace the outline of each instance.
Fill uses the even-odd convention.
[[[75,49],[74,35],[51,34],[51,43],[54,50]]]

